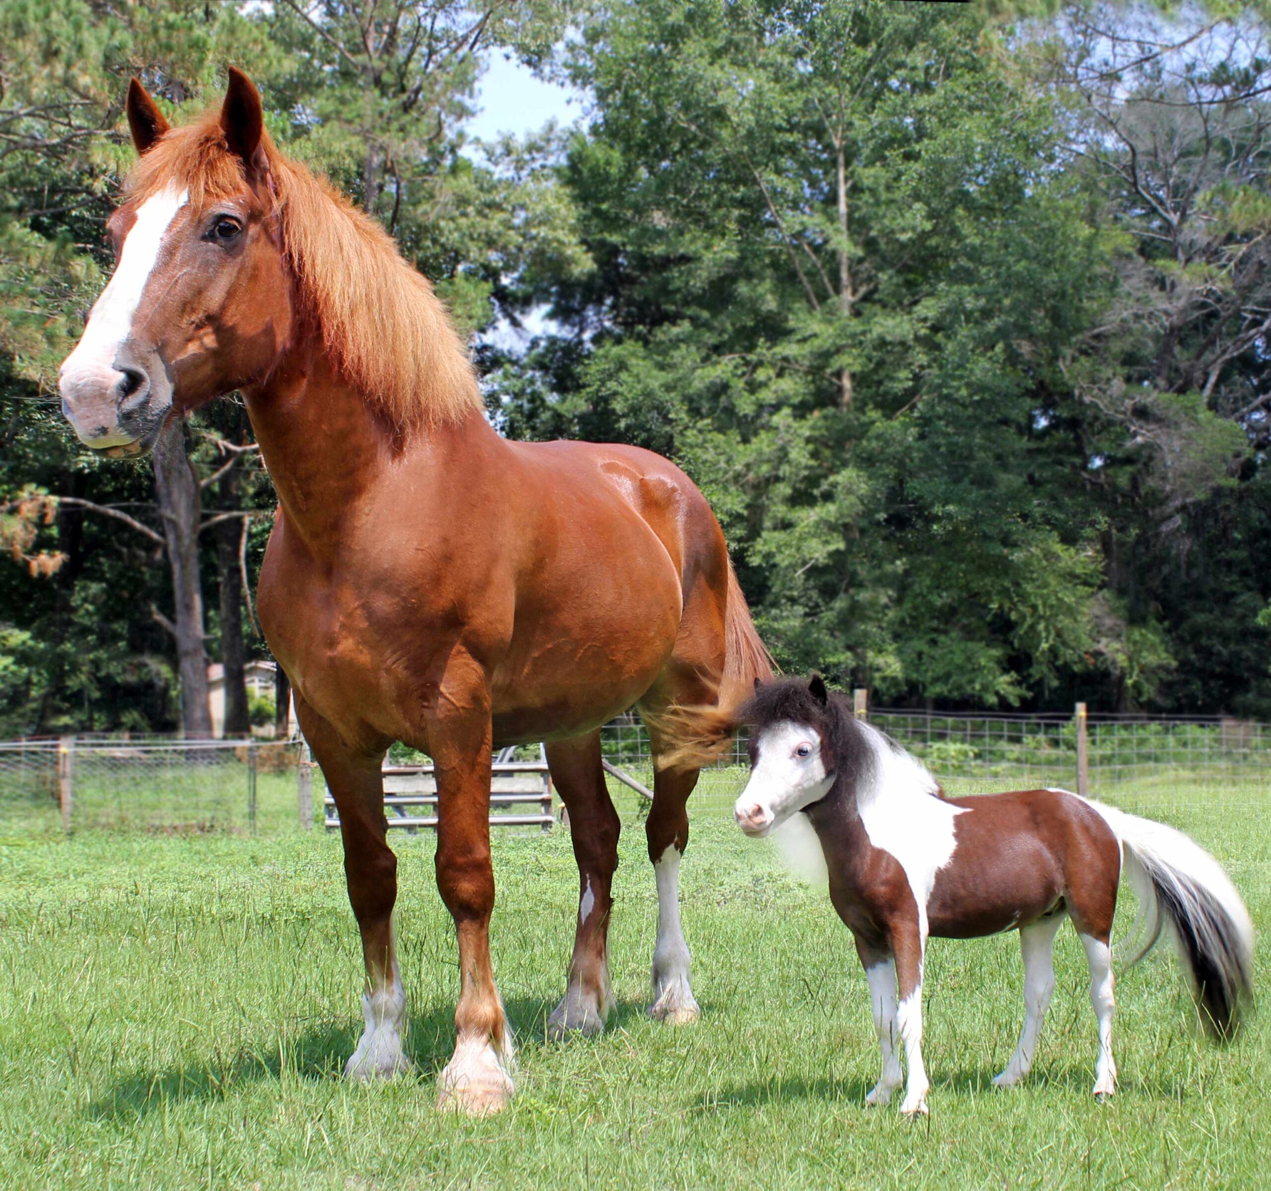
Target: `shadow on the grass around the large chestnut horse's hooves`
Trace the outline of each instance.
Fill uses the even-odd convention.
[[[547,1021],[554,1005],[554,1000],[533,997],[505,1002],[519,1047],[545,1044]],[[609,1028],[622,1027],[643,1017],[643,1005],[634,1000],[619,1002],[610,1014]],[[289,1078],[308,1083],[330,1083],[343,1077],[344,1064],[357,1046],[361,1030],[361,1022],[350,1018],[297,1032],[280,1032],[255,1042],[240,1042],[231,1051],[214,1044],[210,1054],[188,1063],[135,1070],[117,1078],[89,1103],[88,1113],[97,1120],[139,1120],[173,1103],[230,1099],[248,1084],[281,1080],[283,1072]],[[454,1047],[452,1004],[436,1004],[412,1013],[405,1050],[416,1070],[405,1078],[419,1083],[422,1092],[422,1086],[431,1084],[450,1061]]]

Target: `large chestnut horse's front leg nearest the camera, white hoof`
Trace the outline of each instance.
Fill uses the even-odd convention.
[[[438,1105],[497,1112],[512,1094],[512,1035],[489,957],[489,695],[447,681],[438,708],[427,726],[437,773],[437,888],[459,937],[458,1040],[441,1073]]]

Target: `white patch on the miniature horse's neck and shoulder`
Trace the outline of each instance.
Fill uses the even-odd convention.
[[[894,855],[905,871],[921,939],[927,939],[927,902],[938,873],[953,858],[953,820],[963,807],[937,796],[939,787],[914,756],[896,749],[874,727],[860,725],[873,754],[867,777],[857,783],[857,811],[874,848]]]

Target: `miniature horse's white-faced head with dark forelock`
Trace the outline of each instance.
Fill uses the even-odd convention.
[[[820,675],[760,685],[738,712],[750,725],[750,780],[733,807],[746,835],[768,835],[834,786],[843,709]]]

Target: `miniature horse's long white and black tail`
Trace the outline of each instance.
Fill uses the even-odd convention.
[[[1205,1024],[1230,1037],[1252,994],[1253,923],[1223,867],[1182,831],[1092,802],[1116,833],[1139,897],[1138,963],[1168,925],[1187,963]]]

